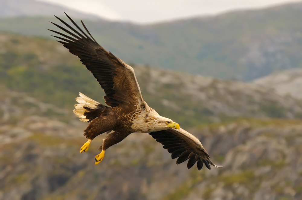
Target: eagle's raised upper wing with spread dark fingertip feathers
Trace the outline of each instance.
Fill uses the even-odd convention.
[[[68,15],[67,17],[79,31],[59,17],[56,18],[71,31],[55,23],[53,24],[72,37],[58,31],[50,31],[63,36],[64,38],[54,37],[63,40],[58,42],[68,48],[69,52],[78,56],[81,59],[80,61],[92,72],[106,93],[106,96],[104,96],[106,104],[111,107],[119,105],[129,107],[129,105],[132,105],[134,109],[138,104],[143,104],[140,86],[137,83],[133,68],[101,47],[89,33],[82,20],[82,25],[90,37]]]

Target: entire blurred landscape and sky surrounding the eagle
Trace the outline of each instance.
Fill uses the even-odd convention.
[[[75,98],[104,92],[47,30],[64,11],[224,167],[187,170],[143,133],[80,154]],[[302,199],[301,19],[287,0],[0,0],[0,199]]]

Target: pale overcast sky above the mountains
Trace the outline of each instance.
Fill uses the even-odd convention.
[[[301,0],[37,0],[95,14],[108,20],[155,23],[220,14],[239,9],[265,8]]]

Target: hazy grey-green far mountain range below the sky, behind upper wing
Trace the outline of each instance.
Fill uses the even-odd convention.
[[[302,3],[296,3],[152,25],[84,22],[104,48],[126,62],[250,81],[301,68],[301,18]],[[0,30],[45,37],[52,34],[46,28],[55,29],[49,21],[59,23],[47,16],[6,17]]]

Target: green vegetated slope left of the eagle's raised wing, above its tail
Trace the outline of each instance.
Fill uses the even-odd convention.
[[[3,33],[1,37],[5,52],[0,54],[0,83],[9,89],[69,109],[81,91],[102,100],[98,82],[75,56],[65,49],[59,53],[61,45]]]

